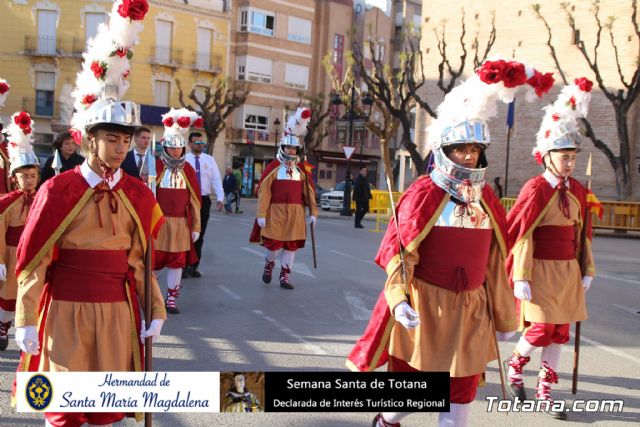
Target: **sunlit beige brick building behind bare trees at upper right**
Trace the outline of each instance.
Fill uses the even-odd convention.
[[[552,28],[553,45],[567,78],[573,81],[576,77],[586,76],[595,81],[593,72],[589,69],[581,56],[576,43],[583,42],[587,51],[592,54],[596,41],[595,20],[590,8],[583,2],[573,2],[569,6],[575,15],[578,32],[574,33],[567,24],[567,16],[561,9],[560,3],[551,0],[538,2],[543,16]],[[480,34],[480,46],[486,44],[488,29],[491,23],[491,11],[495,11],[496,41],[490,56],[515,58],[533,67],[545,71],[554,72],[555,86],[543,100],[535,100],[527,103],[523,98],[516,100],[515,126],[511,132],[509,144],[509,156],[507,158],[507,128],[506,105],[499,107],[499,114],[490,123],[491,147],[488,151],[489,169],[488,181],[493,183],[495,177],[500,177],[503,186],[507,186],[508,196],[517,196],[524,182],[541,169],[531,156],[531,150],[535,143],[537,133],[542,121],[541,108],[551,103],[557,97],[563,86],[553,59],[547,46],[547,31],[544,24],[536,18],[529,3],[511,2],[504,3],[488,0],[482,3],[469,3],[463,0],[434,0],[425,2],[422,11],[422,52],[424,54],[424,68],[429,83],[423,91],[433,107],[443,99],[442,92],[435,82],[438,78],[437,64],[440,56],[437,50],[437,40],[434,36],[434,27],[439,28],[443,22],[447,24],[448,56],[455,64],[460,56],[460,19],[461,10],[464,7],[467,23],[467,47],[470,47],[471,37]],[[607,22],[608,17],[615,17],[614,36],[620,65],[627,81],[631,79],[637,68],[638,38],[631,24],[631,2],[603,0],[600,2],[600,19]],[[615,53],[611,41],[604,30],[602,41],[598,50],[598,64],[606,87],[613,90],[622,87],[615,62]],[[470,51],[470,56],[472,52]],[[473,72],[472,65],[467,64],[466,75]],[[630,123],[631,153],[631,177],[633,194],[632,200],[640,199],[640,154],[638,124],[638,103],[628,113]],[[588,116],[594,132],[599,139],[604,141],[617,155],[618,136],[614,110],[611,103],[603,93],[594,85],[593,96]],[[429,125],[429,117],[423,111],[418,112],[417,119],[417,143],[426,151],[426,132]],[[588,154],[593,155],[593,188],[594,192],[602,199],[615,200],[617,197],[615,177],[613,169],[605,155],[594,147],[588,138],[583,138],[582,152],[579,155],[575,176],[581,181],[585,180],[585,169]],[[508,181],[505,178],[508,175]]]

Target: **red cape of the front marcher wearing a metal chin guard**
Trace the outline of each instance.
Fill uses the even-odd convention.
[[[418,178],[402,195],[396,206],[396,214],[405,253],[415,250],[420,245],[437,221],[447,201],[449,201],[449,195],[429,176]],[[482,189],[482,204],[491,218],[494,236],[502,256],[506,257],[506,214],[488,185]],[[384,268],[387,274],[392,272],[400,262],[397,236],[395,221],[391,218],[376,256],[376,263]],[[367,372],[387,363],[389,337],[394,323],[395,320],[391,316],[391,310],[382,291],[364,334],[347,357],[347,367],[354,371]]]

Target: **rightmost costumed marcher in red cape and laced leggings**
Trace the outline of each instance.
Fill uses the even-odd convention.
[[[542,175],[530,179],[509,212],[509,258],[514,295],[520,300],[525,327],[508,365],[509,391],[526,399],[522,371],[531,353],[542,347],[536,399],[548,400],[562,344],[569,341],[569,324],[587,318],[585,293],[595,275],[591,230],[584,242],[586,271],[577,259],[584,222],[586,189],[571,174],[580,144],[578,119],[587,115],[592,83],[576,79],[545,108],[533,154],[544,166]],[[584,276],[583,276],[584,274]],[[562,412],[547,411],[564,419]]]

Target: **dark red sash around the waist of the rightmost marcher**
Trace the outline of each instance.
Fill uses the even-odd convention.
[[[533,231],[536,259],[570,260],[576,257],[576,231],[572,225],[545,225]]]

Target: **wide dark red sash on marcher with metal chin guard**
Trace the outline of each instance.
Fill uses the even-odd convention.
[[[487,271],[491,230],[433,227],[420,244],[416,277],[452,291],[482,286]]]

